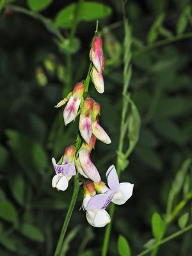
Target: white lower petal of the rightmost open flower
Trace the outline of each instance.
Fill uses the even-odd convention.
[[[133,186],[134,184],[129,182],[120,183],[118,191],[116,191],[113,196],[112,202],[118,205],[125,204],[125,202],[132,196]]]

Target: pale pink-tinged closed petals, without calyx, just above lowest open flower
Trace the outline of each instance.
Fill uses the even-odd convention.
[[[83,172],[89,179],[95,182],[100,180],[99,172],[97,171],[95,165],[92,163],[92,160],[90,159],[90,151],[87,148],[83,148],[79,152],[79,162]]]

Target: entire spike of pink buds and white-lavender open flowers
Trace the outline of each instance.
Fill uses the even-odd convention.
[[[97,92],[103,93],[104,56],[102,39],[97,33],[93,38],[90,60],[92,61],[90,76],[93,84]],[[91,152],[95,147],[96,140],[109,144],[111,139],[99,123],[100,104],[84,92],[85,84],[84,81],[81,81],[74,86],[72,92],[65,99],[56,105],[56,108],[59,108],[67,102],[63,111],[65,125],[75,120],[80,113],[79,132],[83,143],[80,148],[76,148],[75,145],[68,146],[60,164],[56,164],[56,160],[52,158],[56,172],[52,178],[52,187],[65,191],[68,187],[68,181],[73,175],[76,175],[77,170],[86,178],[83,178],[83,210],[86,211],[86,219],[93,227],[104,227],[111,220],[106,207],[111,202],[118,205],[124,204],[132,195],[133,184],[129,182],[119,183],[114,165],[110,166],[106,172],[108,186],[100,179],[100,174],[92,162]]]

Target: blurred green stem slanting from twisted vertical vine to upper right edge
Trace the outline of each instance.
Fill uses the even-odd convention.
[[[161,40],[159,42],[156,42],[154,44],[148,44],[144,47],[142,47],[141,49],[137,50],[137,51],[134,51],[132,53],[133,56],[137,56],[138,54],[141,54],[143,52],[147,52],[147,51],[151,51],[159,46],[163,46],[163,45],[166,45],[166,44],[172,44],[173,42],[176,42],[176,41],[179,41],[179,40],[184,40],[186,38],[190,38],[192,37],[192,32],[189,32],[189,33],[185,33],[185,34],[182,34],[182,35],[176,35],[176,36],[172,36],[170,38],[166,38],[164,40]]]

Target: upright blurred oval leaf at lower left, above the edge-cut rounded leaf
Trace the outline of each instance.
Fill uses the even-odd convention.
[[[15,200],[17,200],[20,205],[24,205],[25,180],[20,173],[15,175],[14,179],[10,180],[10,189]]]

